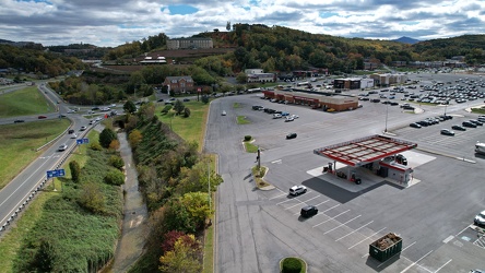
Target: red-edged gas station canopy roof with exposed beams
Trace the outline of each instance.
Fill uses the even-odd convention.
[[[416,146],[416,143],[376,134],[316,149],[314,154],[358,167]]]

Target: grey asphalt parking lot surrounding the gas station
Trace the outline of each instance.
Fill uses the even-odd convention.
[[[232,107],[234,103],[238,108]],[[251,109],[252,105],[299,118],[284,122]],[[445,111],[442,106],[414,105],[423,111],[410,114],[399,106],[363,102],[357,110],[329,114],[270,103],[257,95],[214,102],[206,149],[220,154],[225,180],[218,193],[218,271],[274,272],[285,256],[305,259],[309,272],[469,272],[485,268],[485,240],[472,229],[473,217],[485,206],[485,158],[473,153],[485,129],[440,134],[442,128],[474,117],[463,109],[466,103],[447,106],[452,120],[411,128],[411,122]],[[227,116],[221,117],[221,109]],[[237,116],[251,123],[238,127]],[[321,173],[329,161],[314,155],[312,150],[382,133],[386,123],[393,138],[418,143],[406,152],[415,180],[409,188],[366,169],[358,170],[362,185]],[[289,132],[298,136],[285,140]],[[265,179],[274,186],[272,190],[255,190],[248,175],[255,155],[244,153],[240,145],[246,134],[262,151],[261,164],[269,168]],[[308,191],[289,197],[294,185],[304,185]],[[318,214],[299,217],[300,209],[308,204],[316,205]],[[369,244],[387,233],[403,238],[403,250],[400,258],[380,263],[368,256]]]

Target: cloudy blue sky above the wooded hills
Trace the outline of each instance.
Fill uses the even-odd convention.
[[[0,0],[0,39],[44,46],[190,37],[227,22],[425,40],[484,34],[485,0]]]

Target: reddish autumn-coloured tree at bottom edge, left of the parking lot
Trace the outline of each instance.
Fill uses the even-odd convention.
[[[185,239],[187,237],[189,241]],[[159,258],[162,265],[158,269],[167,273],[199,273],[202,271],[202,264],[198,260],[200,242],[196,240],[193,235],[182,236],[175,242],[174,250],[165,252]]]

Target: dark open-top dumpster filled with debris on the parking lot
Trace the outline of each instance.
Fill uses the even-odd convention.
[[[369,256],[385,262],[402,250],[402,238],[393,233],[389,233],[369,245]]]

